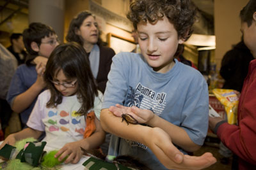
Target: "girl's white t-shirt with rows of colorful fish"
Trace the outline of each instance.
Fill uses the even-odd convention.
[[[66,143],[83,139],[86,122],[84,115],[77,114],[77,111],[81,108],[77,96],[63,96],[62,103],[58,104],[56,108],[47,108],[46,104],[50,97],[49,90],[45,90],[38,96],[27,123],[28,127],[45,131],[43,141],[47,142],[47,146],[56,149],[62,148]],[[94,107],[92,108],[98,119],[102,97],[102,93],[99,92],[99,96],[94,99]]]

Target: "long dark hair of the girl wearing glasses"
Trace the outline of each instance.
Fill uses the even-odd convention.
[[[82,105],[77,113],[86,115],[90,108],[93,108],[94,98],[98,96],[98,91],[89,59],[81,45],[75,42],[67,43],[57,46],[52,51],[44,73],[45,83],[51,92],[47,108],[56,107],[62,102],[61,93],[51,82],[61,69],[67,78],[77,78],[77,99]]]

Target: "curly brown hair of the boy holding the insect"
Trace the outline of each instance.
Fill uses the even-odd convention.
[[[154,23],[164,16],[173,24],[179,38],[186,41],[191,36],[196,8],[190,0],[136,0],[127,14],[136,30],[141,21]]]

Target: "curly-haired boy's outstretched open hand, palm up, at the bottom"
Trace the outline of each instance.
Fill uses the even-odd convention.
[[[158,127],[152,128],[149,133],[145,134],[145,144],[168,169],[204,169],[216,162],[211,153],[200,157],[184,155],[172,144],[170,136]]]

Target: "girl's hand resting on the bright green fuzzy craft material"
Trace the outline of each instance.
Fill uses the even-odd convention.
[[[72,164],[76,164],[83,156],[83,151],[81,150],[80,142],[81,141],[67,143],[54,155],[54,157],[57,158],[60,156],[58,160],[61,161],[68,156],[65,160],[65,164],[68,164],[69,162],[71,162]]]

